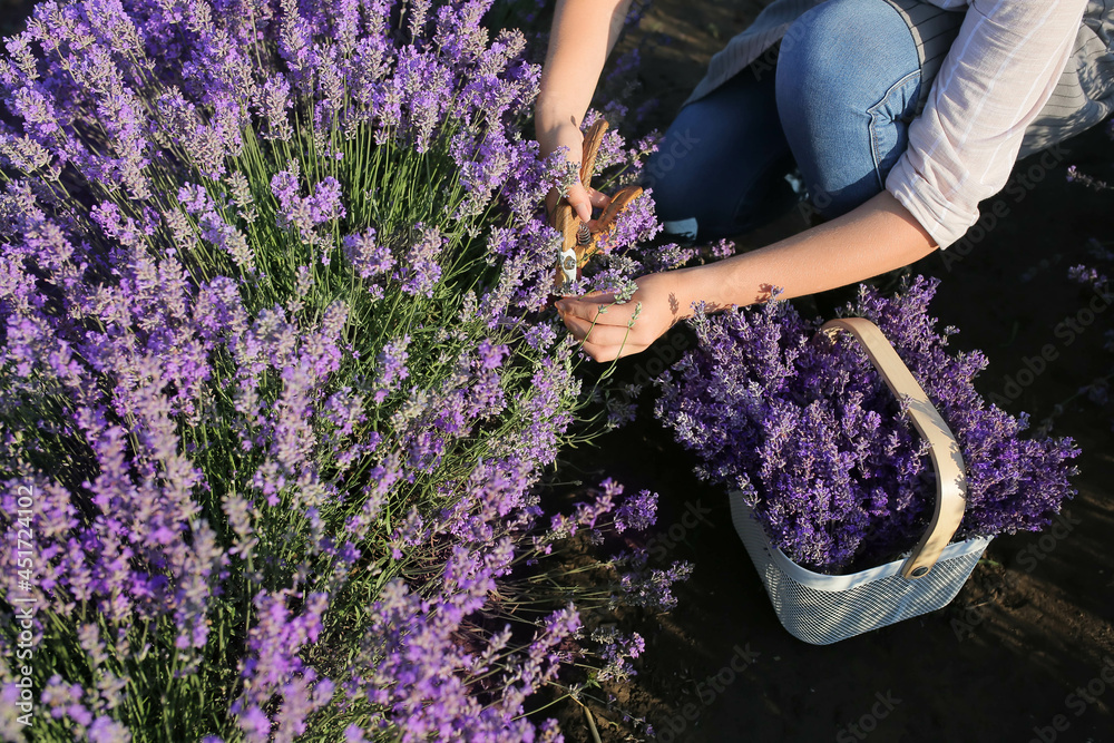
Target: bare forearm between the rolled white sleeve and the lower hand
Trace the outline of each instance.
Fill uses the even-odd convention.
[[[758,251],[675,272],[681,313],[814,294],[899,268],[936,250],[924,227],[888,192],[850,213]]]

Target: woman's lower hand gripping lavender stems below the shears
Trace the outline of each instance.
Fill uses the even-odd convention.
[[[612,294],[566,296],[557,302],[565,325],[596,361],[612,361],[644,351],[678,320],[692,314],[682,306],[677,273],[658,273],[635,281],[638,291],[624,304]]]

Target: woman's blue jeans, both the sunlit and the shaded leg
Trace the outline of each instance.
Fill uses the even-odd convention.
[[[794,162],[821,216],[878,194],[917,114],[920,58],[886,0],[828,0],[790,27],[776,71],[752,66],[681,109],[646,164],[667,233],[746,232],[795,196]]]

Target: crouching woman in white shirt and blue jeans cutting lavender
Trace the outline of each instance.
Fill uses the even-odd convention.
[[[536,106],[543,155],[578,157],[579,121],[627,4],[558,1]],[[667,231],[705,238],[761,219],[795,160],[828,221],[642,276],[633,301],[606,313],[610,296],[565,297],[565,324],[607,361],[644,350],[694,302],[812,294],[946,248],[1019,156],[1111,113],[1112,37],[1114,0],[775,0],[712,59],[647,185]],[[567,198],[584,221],[607,202],[579,184]]]

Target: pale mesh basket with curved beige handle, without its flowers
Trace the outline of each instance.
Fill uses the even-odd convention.
[[[947,423],[881,331],[861,317],[833,320],[824,331],[850,332],[898,398],[908,400],[913,426],[928,441],[936,469],[936,510],[909,557],[851,575],[813,573],[770,544],[739,491],[731,520],[765,585],[782,626],[794,637],[828,645],[946,606],[981,557],[990,537],[949,545],[966,506],[959,446]]]

